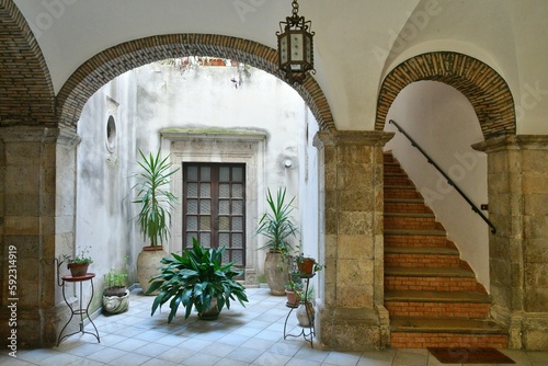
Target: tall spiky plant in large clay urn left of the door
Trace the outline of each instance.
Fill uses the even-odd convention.
[[[168,255],[162,244],[170,236],[171,210],[178,201],[170,187],[171,178],[179,169],[172,169],[170,156],[162,158],[160,149],[148,156],[139,150],[139,155],[141,172],[136,174],[138,183],[133,190],[137,191],[137,196],[133,203],[140,205],[137,221],[140,232],[149,241],[137,258],[137,278],[142,291],[147,293],[149,279],[158,273],[160,260]]]

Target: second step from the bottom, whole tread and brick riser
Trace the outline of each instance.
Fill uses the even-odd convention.
[[[387,290],[385,307],[390,317],[455,317],[486,319],[490,298],[475,291]]]

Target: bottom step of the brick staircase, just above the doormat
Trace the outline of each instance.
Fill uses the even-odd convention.
[[[492,320],[464,318],[390,317],[393,348],[507,348],[504,329]]]

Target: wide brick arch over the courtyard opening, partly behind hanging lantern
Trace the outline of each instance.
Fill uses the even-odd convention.
[[[84,62],[57,96],[59,124],[76,128],[83,105],[102,85],[134,68],[167,58],[212,56],[236,59],[283,80],[276,50],[262,44],[214,34],[171,34],[135,39],[111,47]],[[313,78],[294,85],[316,117],[320,129],[334,129],[328,101]]]

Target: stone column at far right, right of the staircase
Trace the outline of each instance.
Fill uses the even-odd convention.
[[[488,155],[492,316],[510,347],[548,348],[548,136],[503,136]]]

